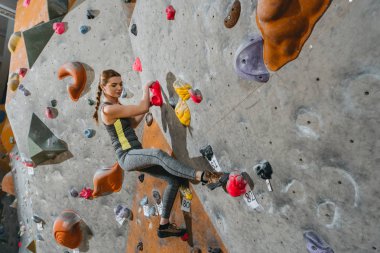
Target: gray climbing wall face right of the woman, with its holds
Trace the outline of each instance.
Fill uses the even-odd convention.
[[[176,157],[200,166],[199,149],[210,144],[224,170],[254,180],[255,210],[195,186],[223,242],[230,252],[306,252],[303,234],[313,230],[335,252],[376,252],[380,3],[241,0],[234,26],[233,3],[141,0],[130,25],[142,82],[163,87],[166,104],[152,112]],[[235,53],[252,35],[281,43],[268,49],[273,41],[264,39],[263,60],[277,70],[266,83],[263,68],[248,68],[258,81],[235,71]],[[281,62],[271,66],[273,55]],[[176,79],[203,95],[199,104],[186,101],[187,128],[168,105],[178,99]],[[273,167],[273,192],[253,170],[261,159]]]

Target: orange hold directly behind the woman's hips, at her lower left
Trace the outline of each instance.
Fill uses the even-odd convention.
[[[123,186],[123,177],[124,171],[117,162],[110,168],[97,170],[93,179],[93,197],[96,198],[120,191]]]

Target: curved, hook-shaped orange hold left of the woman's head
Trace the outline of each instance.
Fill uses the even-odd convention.
[[[71,76],[74,82],[69,86],[68,92],[71,100],[78,101],[84,88],[86,87],[87,75],[86,70],[80,62],[68,62],[58,69],[58,79]]]

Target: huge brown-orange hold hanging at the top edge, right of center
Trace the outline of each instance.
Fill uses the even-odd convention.
[[[276,71],[298,57],[330,0],[259,0],[256,23],[264,38],[264,62]]]

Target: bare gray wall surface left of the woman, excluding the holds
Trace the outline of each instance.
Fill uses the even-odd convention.
[[[97,10],[97,17],[88,20],[87,9]],[[28,156],[27,136],[32,113],[35,113],[68,144],[72,154],[61,163],[36,167],[33,176],[28,175],[22,164],[14,166],[18,177],[22,178],[17,180],[19,185],[16,188],[27,189],[27,192],[19,191],[19,210],[25,211],[20,217],[27,224],[28,237],[33,239],[39,233],[44,238],[44,241],[37,242],[38,252],[63,251],[64,248],[54,241],[52,227],[64,209],[77,211],[92,230],[94,236],[89,240],[88,252],[124,251],[126,228],[118,227],[113,208],[118,203],[131,204],[135,175],[125,177],[124,187],[119,193],[95,200],[72,198],[69,190],[71,187],[81,190],[85,185],[92,188],[95,171],[116,161],[105,128],[101,124],[96,125],[92,119],[95,107],[87,103],[87,98],[96,98],[100,71],[106,68],[119,71],[125,81],[134,84],[130,87],[136,96],[131,101],[136,97],[138,101],[141,97],[141,82],[131,68],[134,59],[126,13],[126,6],[121,1],[110,1],[107,5],[103,1],[86,1],[74,8],[64,19],[67,31],[53,35],[23,81],[31,95],[25,97],[18,90],[6,106],[21,153]],[[79,32],[81,25],[90,26],[90,31],[82,35]],[[67,61],[80,61],[88,69],[87,87],[78,102],[71,101],[67,92],[71,78],[63,81],[57,78],[58,68]],[[56,119],[45,116],[45,108],[50,106],[51,99],[58,102]],[[92,139],[83,135],[86,128],[96,130]],[[25,194],[27,197],[23,198]],[[31,220],[32,213],[46,221],[43,231],[36,230],[36,224]]]

